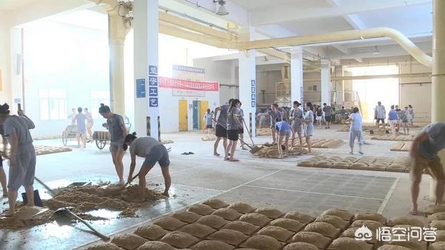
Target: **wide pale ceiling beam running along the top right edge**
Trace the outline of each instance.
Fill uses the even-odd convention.
[[[319,19],[326,17],[342,17],[373,10],[385,10],[403,6],[430,4],[431,0],[405,0],[405,1],[357,1],[341,0],[341,8],[331,6],[314,7],[312,1],[303,1],[299,4],[277,5],[275,7],[259,8],[250,15],[250,23],[253,26],[274,24],[277,22],[291,22],[304,19]]]

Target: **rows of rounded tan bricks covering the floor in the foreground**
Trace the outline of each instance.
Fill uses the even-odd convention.
[[[445,211],[445,206],[440,210]],[[248,203],[228,204],[211,199],[156,219],[153,223],[143,224],[133,233],[115,235],[111,242],[90,245],[88,250],[405,249],[396,246],[426,249],[425,241],[406,241],[406,233],[400,233],[405,239],[403,241],[377,241],[372,232],[385,226],[397,230],[396,228],[400,227],[422,228],[425,225],[421,220],[407,216],[387,219],[378,213],[353,214],[348,210],[334,208],[325,210],[318,217],[312,217],[296,211],[284,213],[275,208],[254,208]],[[355,240],[357,230],[371,237]],[[438,238],[437,242],[442,240]],[[385,244],[385,247],[382,247],[382,244]]]

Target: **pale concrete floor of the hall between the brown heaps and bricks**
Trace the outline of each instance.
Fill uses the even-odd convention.
[[[339,126],[333,126],[330,130],[316,129],[314,138],[335,138],[347,142],[348,133],[337,132],[338,129]],[[386,217],[407,215],[410,210],[408,174],[296,167],[298,161],[311,156],[260,159],[241,150],[236,151],[236,158],[241,161],[229,163],[222,157],[213,156],[213,142],[202,142],[202,135],[197,132],[163,134],[163,139],[175,141],[166,145],[172,147],[172,197],[140,210],[136,218],[116,219],[117,213],[99,211],[97,213],[101,216],[111,219],[93,222],[93,226],[102,233],[113,235],[209,197],[227,202],[246,201],[254,206],[270,206],[283,211],[298,210],[312,215],[318,215],[328,208],[380,212]],[[407,156],[406,152],[389,151],[395,142],[369,140],[369,136],[365,140],[370,143],[364,147],[367,156]],[[267,141],[270,138],[254,138],[257,144]],[[35,144],[60,145],[61,140],[36,141]],[[76,142],[69,144],[74,146]],[[195,154],[183,156],[181,153],[184,151]],[[220,147],[222,152],[223,148]],[[349,156],[348,152],[346,143],[337,149],[314,149],[314,153],[324,156]],[[124,156],[126,174],[129,160],[129,155]],[[142,158],[138,159],[138,163],[142,161]],[[117,181],[110,153],[97,149],[94,143],[88,144],[86,150],[74,147],[72,152],[38,156],[36,176],[53,186],[70,181]],[[150,187],[163,188],[159,167],[152,169],[147,180]],[[36,188],[39,187],[36,185]],[[425,176],[425,181],[421,183],[420,209],[430,205],[429,201],[422,199],[428,193],[429,178]],[[5,207],[2,205],[0,208]],[[0,249],[47,249],[49,245],[51,249],[83,249],[82,246],[97,240],[86,232],[87,229],[83,224],[58,226],[54,222],[22,231],[2,230]]]

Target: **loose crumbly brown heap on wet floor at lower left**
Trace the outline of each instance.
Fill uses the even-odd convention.
[[[120,191],[118,186],[104,188],[103,185],[87,187],[65,188],[53,198],[44,200],[43,205],[49,208],[47,213],[33,219],[22,220],[19,217],[11,217],[0,220],[0,228],[22,228],[36,226],[54,221],[53,213],[58,208],[74,207],[72,212],[83,219],[98,220],[102,217],[94,217],[86,212],[97,209],[122,211],[119,217],[135,217],[138,208],[149,206],[154,201],[165,198],[161,192],[145,188],[145,202],[136,202],[138,197],[138,185],[132,185]],[[21,207],[19,204],[17,208]]]

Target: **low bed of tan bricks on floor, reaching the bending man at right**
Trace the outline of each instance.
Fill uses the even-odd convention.
[[[314,156],[298,163],[298,167],[323,167],[334,169],[357,169],[386,172],[410,172],[411,158],[408,156],[373,157],[364,156],[362,158],[348,156],[341,158],[338,156]]]

